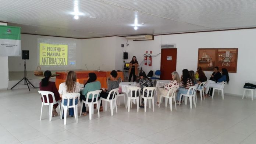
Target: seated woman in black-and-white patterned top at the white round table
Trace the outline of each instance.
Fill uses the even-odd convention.
[[[141,78],[139,80],[139,84],[141,84],[141,95],[143,94],[143,88],[144,87],[153,87],[153,82],[151,79],[147,78],[145,72],[140,72],[139,77]],[[151,94],[151,91],[149,93],[149,96]],[[144,92],[144,97],[147,97],[147,91]],[[144,99],[141,100],[141,107],[144,108]]]

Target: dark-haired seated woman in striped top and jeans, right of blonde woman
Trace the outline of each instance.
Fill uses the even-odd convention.
[[[181,87],[179,87],[179,89],[178,89],[177,98],[176,98],[177,104],[179,104],[179,102],[182,101],[182,98],[181,98],[181,101],[179,101],[181,94],[188,93],[188,89],[195,85],[195,82],[194,82],[193,78],[191,77],[188,69],[183,69],[182,73],[183,73],[183,75],[181,76],[181,84],[180,84]],[[191,92],[189,92],[189,93],[191,93]]]

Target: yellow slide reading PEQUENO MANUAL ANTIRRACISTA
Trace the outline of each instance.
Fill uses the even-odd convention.
[[[39,44],[40,65],[68,65],[68,45]]]

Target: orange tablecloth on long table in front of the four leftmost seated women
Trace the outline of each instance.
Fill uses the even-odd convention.
[[[102,87],[107,87],[107,78],[106,78],[106,73],[107,72],[97,72],[97,71],[75,71],[75,73],[77,74],[77,79],[79,80],[79,83],[83,84],[84,80],[88,80],[88,74],[90,72],[93,72],[97,75],[97,81],[100,82]],[[67,74],[65,72],[56,72],[56,74],[59,74],[59,76],[56,76],[56,87],[57,89],[59,88],[59,85],[63,82],[65,82]]]

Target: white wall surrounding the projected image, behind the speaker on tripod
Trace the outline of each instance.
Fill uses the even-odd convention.
[[[57,42],[72,42],[77,44],[77,64],[75,67],[41,66],[43,71],[81,69],[81,39],[21,34],[21,50],[29,50],[29,60],[26,60],[27,71],[35,71],[36,67],[39,66],[38,38],[51,39],[52,41]],[[24,71],[24,60],[22,60],[21,57],[9,57],[8,65],[9,71]]]

